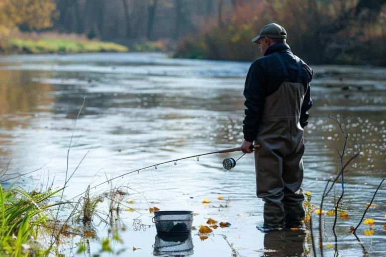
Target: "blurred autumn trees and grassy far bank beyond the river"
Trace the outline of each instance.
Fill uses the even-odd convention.
[[[3,52],[130,49],[250,61],[259,57],[251,39],[275,22],[312,64],[386,65],[386,0],[0,0],[0,10]],[[100,49],[100,40],[119,45]]]

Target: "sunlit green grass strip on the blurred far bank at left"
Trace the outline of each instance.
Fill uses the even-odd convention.
[[[53,54],[53,53],[92,53],[128,52],[126,46],[111,42],[85,39],[7,39],[0,46],[5,53]]]

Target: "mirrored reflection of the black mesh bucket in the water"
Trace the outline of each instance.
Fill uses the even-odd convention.
[[[191,233],[165,234],[158,233],[155,236],[154,256],[189,256],[194,253]]]

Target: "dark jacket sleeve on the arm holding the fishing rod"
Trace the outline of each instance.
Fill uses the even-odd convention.
[[[258,62],[252,63],[245,81],[245,118],[243,121],[244,139],[253,142],[257,136],[257,128],[265,101],[265,76]]]

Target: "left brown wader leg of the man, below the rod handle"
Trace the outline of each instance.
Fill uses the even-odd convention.
[[[268,149],[255,151],[257,197],[264,203],[264,226],[261,230],[272,230],[284,225],[284,197],[282,180],[282,158]]]

